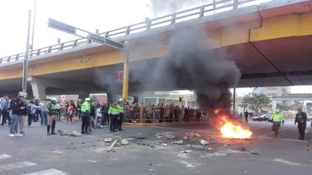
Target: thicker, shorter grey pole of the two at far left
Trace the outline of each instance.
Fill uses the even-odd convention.
[[[28,11],[28,30],[27,30],[27,43],[26,43],[26,53],[23,62],[23,92],[27,92],[27,71],[28,71],[28,54],[29,54],[29,35],[30,35],[30,21],[31,21],[31,10]]]

